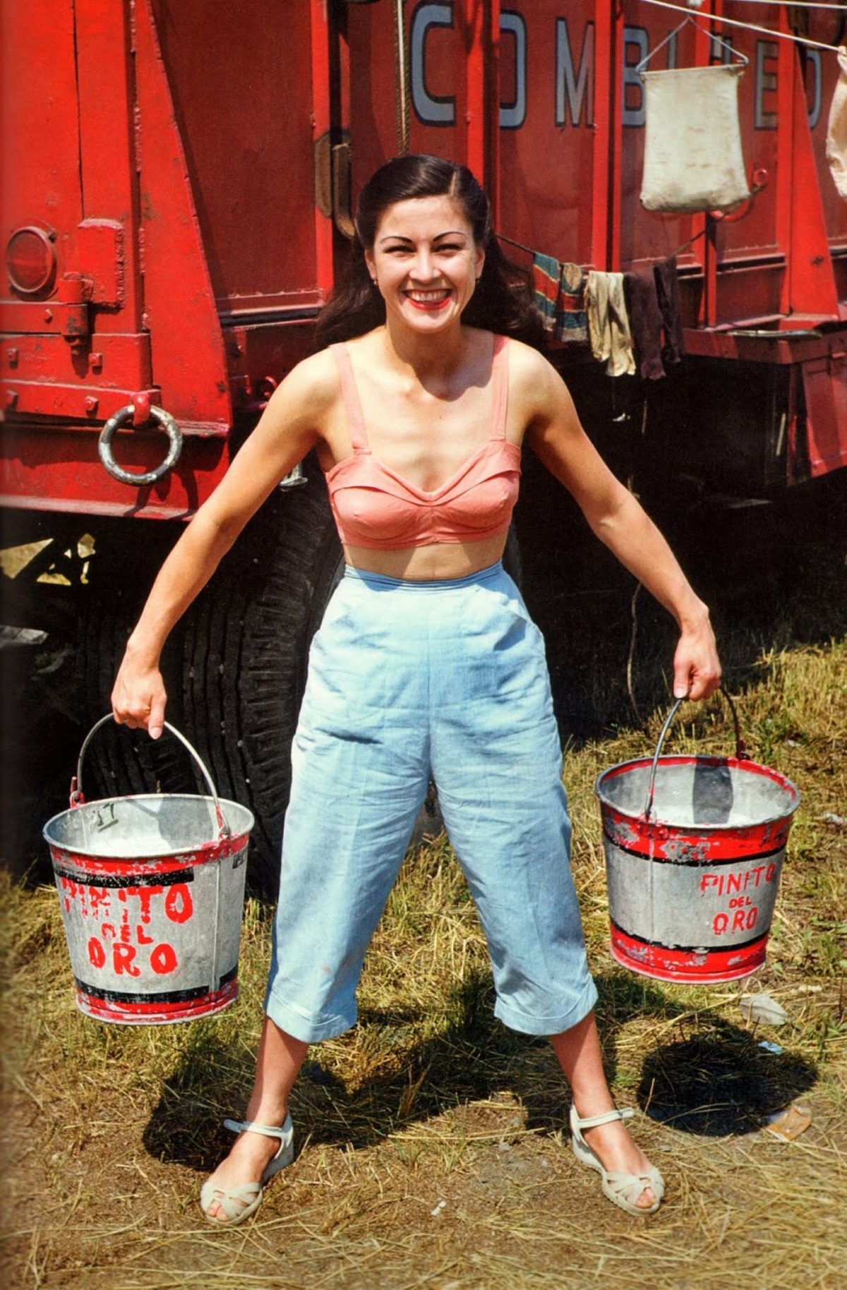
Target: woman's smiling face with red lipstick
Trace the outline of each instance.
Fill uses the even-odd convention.
[[[365,262],[389,320],[440,333],[458,322],[485,253],[453,197],[411,197],[387,206]]]

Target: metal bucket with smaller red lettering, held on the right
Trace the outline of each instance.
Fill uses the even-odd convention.
[[[723,982],[764,962],[782,857],[801,795],[744,749],[735,757],[660,756],[598,777],[611,951],[658,980]]]

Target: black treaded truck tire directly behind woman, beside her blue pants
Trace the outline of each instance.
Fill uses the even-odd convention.
[[[183,640],[183,706],[218,792],[256,815],[248,880],[272,898],[291,742],[309,645],[341,574],[323,479],[276,491],[198,600]]]

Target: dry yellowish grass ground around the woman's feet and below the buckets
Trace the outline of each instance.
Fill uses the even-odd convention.
[[[611,964],[593,783],[656,734],[566,756],[575,871],[600,989],[608,1073],[647,1107],[637,1134],[666,1175],[651,1220],[603,1200],[563,1142],[566,1093],[544,1042],[491,1018],[485,947],[443,838],[409,855],[374,939],[360,1024],[315,1047],[297,1085],[301,1148],[256,1222],[196,1207],[243,1107],[269,912],[247,907],[241,997],[191,1026],[124,1029],[74,1006],[56,894],[3,899],[5,1284],[27,1287],[621,1287],[838,1290],[847,1284],[847,645],[760,651],[745,680],[751,751],[794,778],[793,832],[767,966],[719,987],[658,986]],[[684,710],[675,748],[719,751],[714,706]],[[780,1031],[744,1022],[770,991]],[[758,1046],[767,1035],[784,1053]],[[799,1098],[795,1143],[755,1133]]]

